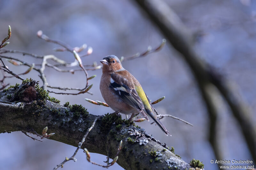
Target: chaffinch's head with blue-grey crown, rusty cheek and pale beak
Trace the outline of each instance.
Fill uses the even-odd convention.
[[[100,62],[103,64],[103,72],[113,73],[124,69],[120,60],[115,55],[106,56],[102,60],[100,60]]]

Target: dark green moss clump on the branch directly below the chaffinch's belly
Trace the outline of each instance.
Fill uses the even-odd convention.
[[[109,114],[109,113],[105,114],[101,120],[102,120],[102,123],[100,126],[100,131],[103,131],[103,132],[108,131],[113,125],[113,123],[118,125],[124,122],[121,115],[117,116],[116,114]]]

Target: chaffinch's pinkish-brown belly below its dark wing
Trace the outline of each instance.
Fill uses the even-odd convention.
[[[126,104],[120,97],[118,97],[111,90],[109,90],[109,89],[104,90],[104,95],[102,93],[103,90],[104,90],[104,88],[101,87],[100,88],[101,95],[111,109],[113,109],[115,111],[122,110],[120,113],[123,113],[126,115],[138,112],[137,110],[132,108],[129,104]]]

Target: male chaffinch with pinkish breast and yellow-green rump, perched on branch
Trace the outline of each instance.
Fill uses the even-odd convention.
[[[140,82],[124,69],[120,60],[115,55],[109,55],[100,62],[103,64],[100,92],[108,106],[115,111],[121,110],[119,112],[125,115],[140,113],[147,120],[148,114],[166,136],[172,136],[153,113],[154,108]]]

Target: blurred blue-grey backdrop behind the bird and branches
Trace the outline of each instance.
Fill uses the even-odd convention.
[[[256,110],[256,1],[253,0],[172,0],[166,2],[178,14],[184,24],[196,32],[196,49],[206,60],[222,72],[228,79],[235,81],[246,102],[249,103],[255,118]],[[42,30],[53,39],[59,39],[70,46],[86,43],[92,46],[93,53],[84,57],[84,64],[92,64],[104,56],[115,54],[129,57],[143,52],[150,45],[158,46],[163,35],[155,25],[140,12],[137,5],[128,0],[52,0],[52,1],[0,1],[0,39],[7,34],[8,25],[12,27],[12,37],[6,49],[15,49],[40,55],[54,54],[68,62],[74,57],[68,52],[54,52],[58,47],[38,39],[36,32]],[[197,89],[194,77],[186,63],[172,46],[167,43],[157,53],[145,58],[124,61],[123,66],[131,72],[142,85],[152,101],[159,97],[166,98],[154,105],[161,114],[171,114],[192,123],[194,127],[180,121],[164,118],[162,122],[171,132],[166,137],[155,125],[148,122],[137,123],[147,133],[175,148],[183,160],[200,159],[205,169],[214,170],[218,166],[211,164],[213,150],[208,142],[208,114],[204,101]],[[40,64],[29,56],[10,54],[10,56],[30,63]],[[7,66],[15,73],[27,70],[25,66]],[[75,74],[60,73],[46,68],[46,78],[52,86],[84,88],[83,72]],[[84,101],[84,98],[104,101],[99,90],[101,70],[89,71],[97,74],[90,80],[93,96],[55,95],[61,104],[82,104],[95,115],[113,112],[110,108],[97,106]],[[37,72],[22,76],[40,80]],[[20,83],[18,79],[8,82]],[[218,119],[221,147],[224,159],[252,160],[245,145],[244,137],[236,120],[230,114],[223,99],[220,101]],[[70,157],[74,146],[45,139],[44,142],[33,141],[21,132],[0,134],[0,169],[43,170],[52,169],[65,157]],[[81,151],[76,155],[77,162],[69,161],[63,170],[68,169],[105,169],[87,162]],[[103,164],[106,156],[91,154],[91,160]],[[254,163],[255,165],[255,163]],[[115,164],[109,169],[123,169]]]

